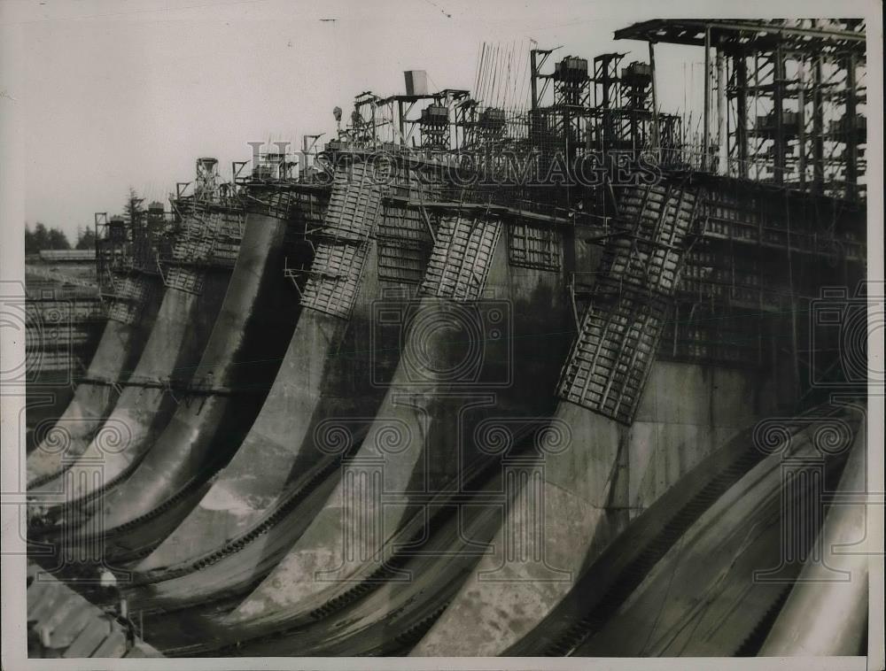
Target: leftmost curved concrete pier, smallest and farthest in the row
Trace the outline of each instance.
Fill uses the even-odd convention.
[[[126,382],[144,350],[163,295],[159,278],[146,274],[123,278],[120,294],[109,306],[105,330],[74,398],[51,428],[37,428],[39,442],[27,455],[29,488],[57,477],[86,450],[113,408],[116,385]],[[126,309],[130,304],[135,304],[131,305],[134,310]],[[113,434],[120,428],[108,426],[104,430]],[[115,442],[112,435],[97,440]]]

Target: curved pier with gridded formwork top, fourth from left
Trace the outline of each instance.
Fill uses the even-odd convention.
[[[287,491],[303,490],[337,461],[329,449],[336,447],[335,429],[359,432],[359,422],[348,426],[347,420],[375,409],[365,382],[369,370],[354,366],[354,352],[365,347],[374,302],[382,298],[375,277],[363,274],[367,264],[375,270],[370,235],[381,189],[369,169],[358,166],[339,170],[334,179],[303,312],[266,404],[213,487],[139,571],[192,565],[248,535]],[[352,198],[360,208],[346,207]],[[331,443],[319,436],[318,449],[315,434],[324,426],[333,430],[326,439]]]

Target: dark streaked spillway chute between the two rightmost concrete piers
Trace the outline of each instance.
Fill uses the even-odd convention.
[[[801,486],[786,492],[785,469],[818,458],[820,475],[828,474],[833,485],[859,442],[852,409],[820,410],[779,420],[770,437],[781,437],[755,441],[748,458],[738,451],[719,467],[700,465],[661,505],[641,514],[506,654],[747,654],[760,622],[798,571],[796,561],[780,567],[784,501],[791,501],[797,519],[817,519],[808,509],[810,501],[820,503],[810,496],[812,479],[797,479]],[[826,434],[838,440],[822,440]],[[756,465],[747,470],[749,464]]]

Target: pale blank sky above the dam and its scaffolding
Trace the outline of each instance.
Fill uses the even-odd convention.
[[[692,14],[684,5],[682,15],[711,15],[704,6]],[[563,44],[555,55],[590,60],[617,50],[631,52],[624,64],[646,60],[645,42],[614,42],[612,32],[664,9],[587,0],[0,0],[0,27],[23,35],[16,98],[26,220],[71,236],[93,212],[119,211],[129,186],[165,200],[175,181],[190,181],[196,157],[219,158],[229,174],[232,160],[250,157],[247,142],[298,146],[302,134],[333,130],[332,108],[347,115],[355,94],[402,92],[407,69],[426,70],[431,89],[470,89],[483,41],[533,38],[541,48]],[[702,52],[659,45],[656,57],[661,108],[676,112],[693,72],[700,95],[701,67],[691,63]]]

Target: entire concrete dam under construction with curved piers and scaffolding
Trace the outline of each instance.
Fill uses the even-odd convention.
[[[32,656],[865,653],[864,25],[616,38],[649,62],[533,49],[517,110],[484,50],[474,92],[409,72],[96,215],[89,362],[27,452]]]

